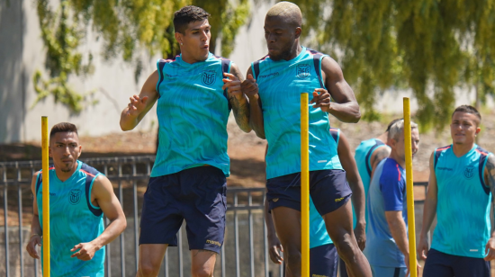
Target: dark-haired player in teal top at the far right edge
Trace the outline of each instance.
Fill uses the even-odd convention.
[[[418,256],[425,277],[488,277],[495,258],[495,228],[490,219],[495,190],[495,157],[474,143],[482,116],[469,105],[455,109],[452,144],[429,159],[428,192]],[[427,234],[437,215],[428,251]],[[491,224],[490,224],[491,220]]]

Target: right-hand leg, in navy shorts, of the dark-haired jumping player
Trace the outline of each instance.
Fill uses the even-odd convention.
[[[217,254],[225,235],[227,211],[225,174],[213,166],[194,167],[180,176],[187,240],[191,250],[191,275],[213,276]]]

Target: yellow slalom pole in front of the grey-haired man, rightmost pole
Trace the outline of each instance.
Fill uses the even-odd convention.
[[[410,277],[418,277],[416,260],[416,226],[414,219],[414,189],[412,183],[412,146],[410,134],[410,98],[404,97],[404,142],[406,147],[406,183],[408,195],[408,226],[410,241]]]

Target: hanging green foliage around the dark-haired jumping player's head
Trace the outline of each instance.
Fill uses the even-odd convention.
[[[55,102],[75,113],[83,109],[85,94],[71,88],[68,78],[89,75],[94,70],[94,54],[88,53],[84,58],[78,49],[85,40],[86,26],[91,26],[103,40],[104,58],[121,57],[135,66],[137,81],[141,69],[138,49],[146,49],[150,55],[159,52],[164,58],[179,52],[172,21],[174,12],[181,7],[193,4],[211,13],[211,51],[220,38],[224,56],[233,50],[238,28],[249,14],[247,0],[238,0],[235,6],[228,0],[60,0],[57,9],[49,2],[36,2],[49,77],[43,78],[40,71],[33,76],[38,94],[35,104],[52,94]]]

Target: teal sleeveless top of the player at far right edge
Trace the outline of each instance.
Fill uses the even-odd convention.
[[[477,145],[460,157],[452,145],[434,153],[438,197],[431,247],[449,255],[483,258],[491,230],[491,191],[483,173],[492,154]]]

